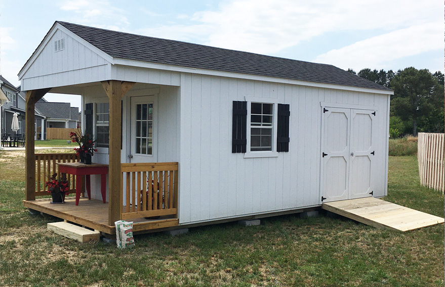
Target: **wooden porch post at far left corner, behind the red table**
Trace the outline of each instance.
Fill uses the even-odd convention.
[[[49,90],[29,90],[25,93],[25,200],[35,200],[34,106]]]

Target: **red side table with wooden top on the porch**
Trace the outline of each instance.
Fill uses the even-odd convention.
[[[76,176],[76,205],[79,205],[80,192],[82,192],[82,176],[85,175],[85,187],[87,189],[88,199],[91,200],[91,179],[90,175],[100,174],[100,192],[103,203],[105,203],[106,174],[108,165],[106,164],[83,164],[79,162],[59,162],[60,173],[74,174]]]

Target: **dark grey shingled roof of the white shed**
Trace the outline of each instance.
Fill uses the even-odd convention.
[[[390,91],[332,65],[57,23],[113,58]]]

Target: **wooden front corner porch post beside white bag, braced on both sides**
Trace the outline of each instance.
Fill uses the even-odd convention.
[[[110,101],[110,128],[108,147],[108,224],[120,220],[122,213],[122,190],[120,190],[120,121],[123,95],[134,85],[134,82],[117,80],[103,81],[102,86]]]

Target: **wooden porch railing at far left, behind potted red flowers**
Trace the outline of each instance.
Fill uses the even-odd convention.
[[[47,196],[47,188],[45,182],[48,176],[56,173],[59,174],[59,162],[78,162],[79,156],[76,154],[35,154],[35,196]],[[69,182],[69,192],[75,193],[76,181],[75,175],[67,174]]]

